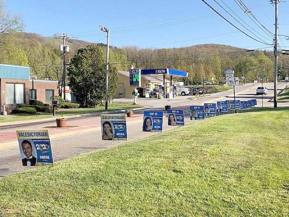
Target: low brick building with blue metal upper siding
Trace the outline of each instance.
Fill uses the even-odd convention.
[[[58,95],[58,81],[30,79],[30,68],[0,64],[0,107],[10,113],[19,104],[30,99],[51,103]]]

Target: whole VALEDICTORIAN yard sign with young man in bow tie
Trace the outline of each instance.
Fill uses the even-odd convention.
[[[48,130],[16,133],[23,166],[54,166]]]

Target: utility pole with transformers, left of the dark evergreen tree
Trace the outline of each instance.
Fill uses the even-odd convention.
[[[59,45],[59,50],[62,51],[62,57],[63,57],[63,72],[62,72],[62,87],[63,87],[63,97],[64,100],[66,101],[66,96],[65,96],[65,86],[66,86],[66,59],[65,59],[65,55],[69,52],[69,46],[66,43],[66,38],[70,38],[71,36],[68,36],[66,34],[59,34],[56,33],[54,34],[54,38],[58,38],[58,39],[62,39],[62,44]],[[61,88],[62,89],[62,88]],[[62,97],[62,90],[60,93],[61,97]]]

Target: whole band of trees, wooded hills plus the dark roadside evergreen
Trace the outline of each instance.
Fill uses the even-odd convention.
[[[62,86],[62,42],[23,32],[23,22],[11,15],[0,0],[0,63],[31,67],[33,79],[57,80]],[[67,54],[67,83],[83,106],[95,106],[104,98],[105,45],[80,40],[69,40]],[[272,51],[246,52],[245,49],[226,45],[205,44],[183,48],[140,49],[136,46],[110,47],[109,96],[117,88],[117,71],[134,68],[175,68],[188,72],[188,78],[180,78],[186,85],[207,81],[224,81],[224,71],[232,68],[236,76],[244,76],[252,82],[264,73],[273,80]],[[280,66],[289,58],[283,56]],[[264,71],[263,71],[264,67]],[[285,76],[286,70],[280,76]],[[60,93],[60,89],[59,89]]]

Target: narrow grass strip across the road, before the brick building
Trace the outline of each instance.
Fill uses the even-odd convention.
[[[108,110],[118,110],[118,109],[130,109],[130,108],[137,108],[141,107],[140,105],[132,105],[132,104],[109,104]],[[102,112],[104,110],[104,106],[95,107],[95,108],[62,108],[60,111],[56,113],[56,117],[67,117],[72,115],[81,115],[81,114],[88,114],[88,113],[95,113],[95,112]],[[14,114],[13,116],[5,116],[0,119],[0,123],[3,122],[15,122],[15,121],[25,121],[25,120],[37,120],[37,119],[46,119],[46,118],[53,118],[53,114]]]

